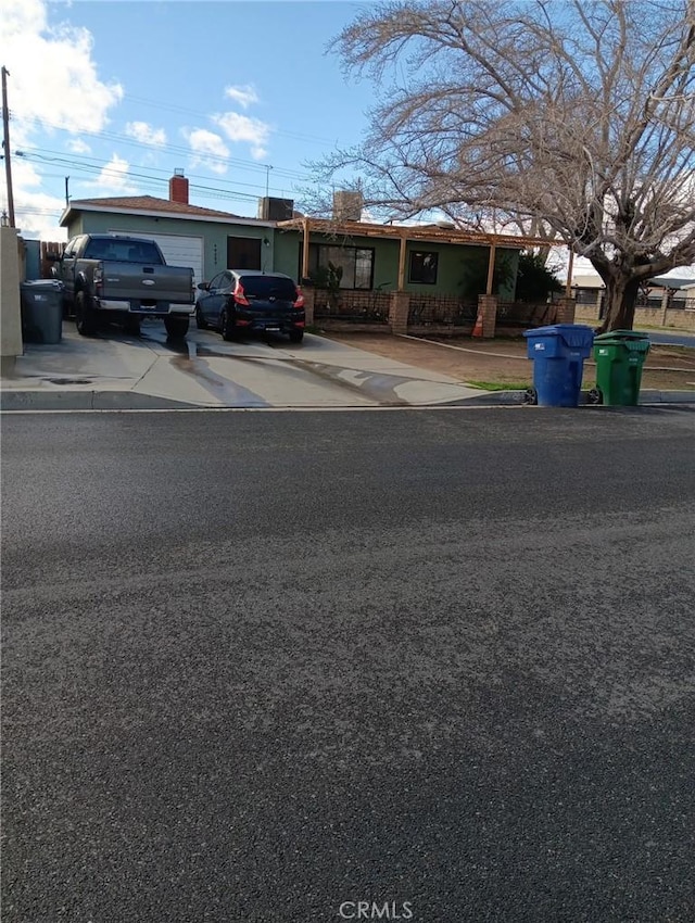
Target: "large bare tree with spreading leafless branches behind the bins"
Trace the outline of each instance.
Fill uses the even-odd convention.
[[[695,0],[404,0],[332,48],[382,96],[320,180],[357,172],[390,216],[545,228],[606,283],[604,330],[695,262]]]

